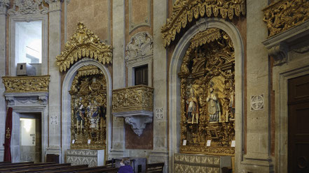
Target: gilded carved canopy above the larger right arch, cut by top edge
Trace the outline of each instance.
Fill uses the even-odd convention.
[[[177,0],[174,3],[171,17],[162,27],[163,45],[167,47],[177,33],[193,21],[193,17],[222,17],[232,20],[246,13],[245,0]]]

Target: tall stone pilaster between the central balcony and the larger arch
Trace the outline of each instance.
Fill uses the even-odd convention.
[[[150,163],[165,162],[167,151],[167,51],[163,47],[161,27],[167,18],[167,1],[153,1],[153,152]]]

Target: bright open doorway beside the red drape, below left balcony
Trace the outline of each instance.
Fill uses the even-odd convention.
[[[20,114],[20,162],[42,160],[41,113]]]

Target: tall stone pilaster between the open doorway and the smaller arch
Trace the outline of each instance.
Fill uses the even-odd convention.
[[[61,2],[60,0],[49,1],[49,93],[48,93],[48,148],[46,153],[57,153],[61,155],[61,81],[60,71],[56,64],[56,56],[60,54],[61,46]],[[57,119],[50,123],[50,119]],[[62,153],[64,155],[64,153]],[[61,160],[61,159],[60,159]],[[61,160],[60,162],[63,162]]]

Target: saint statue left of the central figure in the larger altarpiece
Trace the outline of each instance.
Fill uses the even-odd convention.
[[[198,100],[195,98],[194,89],[190,89],[190,98],[186,100],[186,116],[188,123],[198,123]]]

